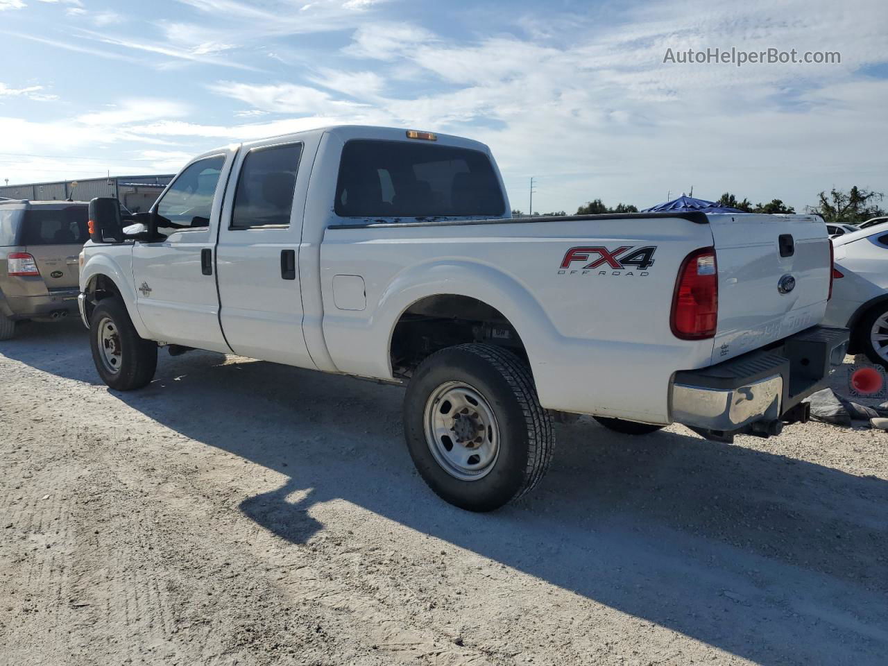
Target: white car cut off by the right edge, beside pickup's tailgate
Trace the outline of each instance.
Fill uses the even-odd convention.
[[[833,239],[833,292],[824,326],[851,329],[851,353],[888,369],[888,226]]]

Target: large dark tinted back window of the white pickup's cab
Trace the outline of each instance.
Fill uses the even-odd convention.
[[[354,140],[342,151],[335,210],[344,218],[496,217],[505,202],[480,151]]]

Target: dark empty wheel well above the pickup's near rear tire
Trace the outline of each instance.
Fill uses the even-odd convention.
[[[440,294],[422,298],[401,313],[390,345],[392,373],[410,377],[432,353],[465,343],[501,346],[527,362],[524,343],[503,313],[477,298]]]

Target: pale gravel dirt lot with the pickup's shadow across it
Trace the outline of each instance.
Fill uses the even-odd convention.
[[[76,322],[0,343],[0,662],[884,664],[888,433],[560,425],[494,514],[410,463],[401,390],[162,353],[99,385]]]

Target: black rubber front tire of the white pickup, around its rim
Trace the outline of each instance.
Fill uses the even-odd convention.
[[[109,369],[103,360],[105,353],[99,339],[106,322],[112,327],[117,340],[115,350],[119,359],[115,361],[115,370]],[[119,298],[105,298],[93,309],[90,317],[90,347],[99,377],[117,391],[142,388],[155,377],[157,344],[139,337],[126,306]]]

